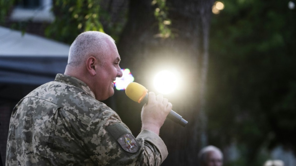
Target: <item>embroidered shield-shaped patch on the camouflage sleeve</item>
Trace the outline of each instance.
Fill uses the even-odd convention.
[[[122,135],[118,138],[118,143],[121,147],[130,153],[136,153],[138,150],[138,142],[136,141],[135,137],[130,133]]]

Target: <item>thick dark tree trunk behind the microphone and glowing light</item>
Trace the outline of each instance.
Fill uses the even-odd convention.
[[[177,69],[182,77],[183,84],[178,92],[165,97],[173,104],[173,110],[183,116],[188,124],[183,128],[167,120],[161,128],[160,137],[165,141],[169,151],[163,165],[197,165],[198,151],[201,146],[207,144],[204,95],[212,2],[166,1],[174,38],[162,39],[154,37],[159,32],[158,23],[153,15],[155,6],[151,5],[151,0],[130,1],[127,26],[118,43],[122,58],[121,67],[129,68],[135,82],[143,84],[150,91],[155,91],[152,76],[160,69]],[[133,107],[124,105],[126,103],[123,101],[118,102],[118,107]],[[136,107],[139,109],[139,106]],[[134,123],[129,127],[133,134],[137,135],[140,130],[137,125],[141,125],[140,113],[121,111],[124,113],[119,114],[132,114]],[[122,120],[128,121],[124,117]],[[204,139],[201,139],[201,136]]]

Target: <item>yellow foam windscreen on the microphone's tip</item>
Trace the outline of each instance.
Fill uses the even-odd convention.
[[[139,83],[129,83],[125,89],[125,94],[131,98],[131,100],[140,103],[146,96],[148,90]]]

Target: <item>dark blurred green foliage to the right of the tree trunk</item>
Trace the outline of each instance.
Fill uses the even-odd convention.
[[[256,165],[266,142],[296,150],[288,134],[296,129],[296,11],[288,2],[227,0],[212,17],[209,140],[247,146],[246,165]]]

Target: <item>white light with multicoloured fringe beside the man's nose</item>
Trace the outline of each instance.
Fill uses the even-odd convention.
[[[124,90],[127,88],[127,85],[135,80],[133,75],[131,74],[130,69],[121,69],[122,77],[117,77],[114,81],[115,88],[117,90]]]

